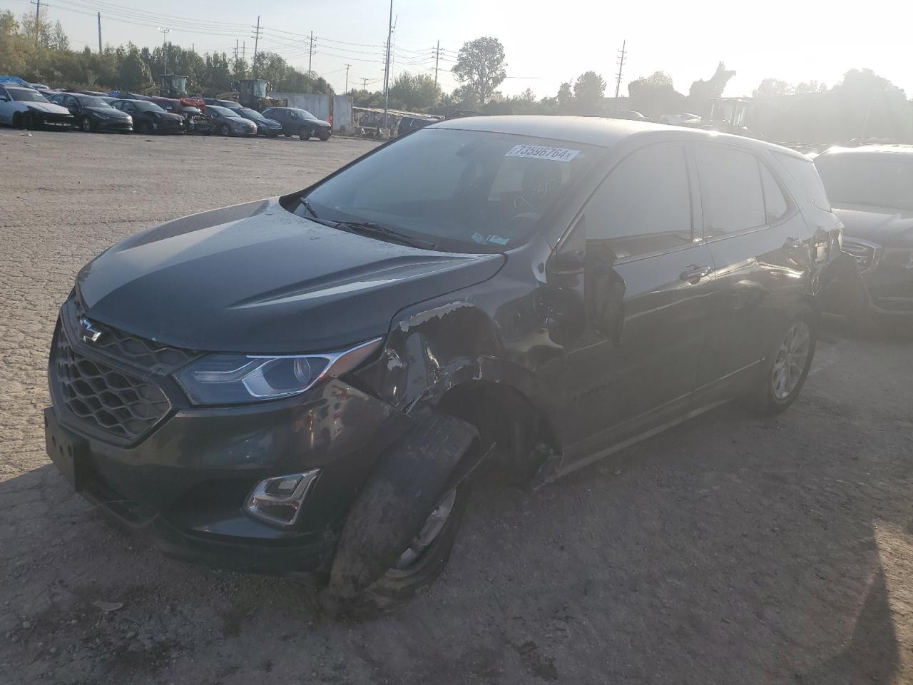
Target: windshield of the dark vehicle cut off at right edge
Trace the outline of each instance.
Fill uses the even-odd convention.
[[[834,203],[913,211],[913,154],[820,154],[814,165]]]

